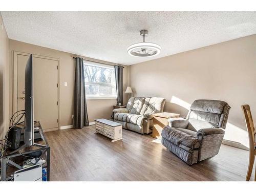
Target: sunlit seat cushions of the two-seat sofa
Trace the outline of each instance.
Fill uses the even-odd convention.
[[[114,119],[142,126],[144,117],[131,113],[116,113]]]

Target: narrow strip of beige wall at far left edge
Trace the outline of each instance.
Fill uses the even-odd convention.
[[[3,25],[3,29],[2,26]],[[9,40],[0,13],[0,139],[9,123]]]

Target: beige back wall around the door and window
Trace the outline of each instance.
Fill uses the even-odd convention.
[[[48,49],[36,45],[26,44],[16,40],[9,40],[9,58],[10,66],[12,65],[12,51],[19,51],[25,53],[32,53],[42,56],[54,57],[60,59],[60,126],[71,125],[73,120],[71,115],[73,114],[74,108],[74,79],[75,79],[75,60],[71,53]],[[92,61],[99,61],[92,58],[87,58]],[[114,63],[99,61],[109,65],[115,65]],[[123,75],[123,86],[124,89],[127,86],[127,69],[125,66]],[[11,70],[10,70],[11,71]],[[11,75],[11,72],[10,72]],[[11,78],[10,78],[11,81]],[[64,87],[64,82],[68,82],[68,87]],[[124,90],[125,91],[125,90]],[[10,92],[11,93],[11,92]],[[126,102],[126,95],[124,94],[124,101]],[[10,102],[10,109],[11,108]],[[113,105],[116,104],[116,99],[104,99],[104,100],[87,100],[88,104],[88,116],[89,121],[93,122],[97,118],[111,117]]]

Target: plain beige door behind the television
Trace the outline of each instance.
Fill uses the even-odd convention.
[[[16,112],[25,108],[25,67],[29,54],[14,52],[13,55],[16,76],[13,112]],[[58,59],[33,56],[34,120],[40,121],[45,131],[58,129],[58,63]]]

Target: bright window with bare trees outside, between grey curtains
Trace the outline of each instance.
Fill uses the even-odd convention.
[[[116,80],[114,66],[83,61],[86,97],[89,99],[115,99]]]

